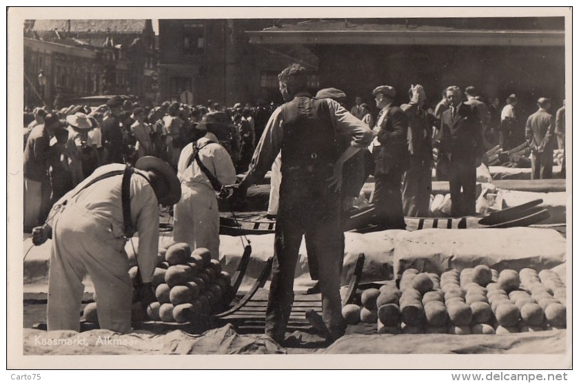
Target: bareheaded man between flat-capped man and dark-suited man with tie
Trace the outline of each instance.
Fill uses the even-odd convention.
[[[409,166],[404,175],[404,215],[427,217],[431,193],[432,125],[434,117],[423,109],[426,94],[422,85],[411,86],[410,102],[400,106],[408,118]]]

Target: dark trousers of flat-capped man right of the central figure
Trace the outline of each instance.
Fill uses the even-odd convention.
[[[392,169],[388,174],[375,177],[374,197],[378,225],[385,229],[406,229],[400,183],[403,172]]]

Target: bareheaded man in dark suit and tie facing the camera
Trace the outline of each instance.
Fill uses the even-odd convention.
[[[463,103],[459,87],[447,87],[446,96],[440,147],[449,158],[451,215],[470,216],[475,214],[476,168],[485,154],[482,127],[476,107]]]

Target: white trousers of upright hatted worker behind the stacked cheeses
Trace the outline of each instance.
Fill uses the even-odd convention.
[[[181,183],[181,200],[174,208],[173,239],[191,249],[205,247],[219,259],[219,207],[215,191],[199,183]]]

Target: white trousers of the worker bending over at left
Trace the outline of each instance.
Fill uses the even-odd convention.
[[[79,331],[83,278],[94,283],[101,329],[131,329],[132,283],[125,240],[110,222],[70,205],[54,223],[48,271],[48,330]]]

